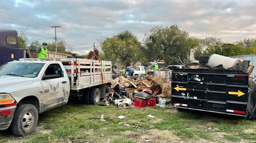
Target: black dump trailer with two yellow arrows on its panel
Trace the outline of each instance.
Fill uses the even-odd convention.
[[[171,105],[255,119],[255,82],[245,71],[175,69],[171,72]]]

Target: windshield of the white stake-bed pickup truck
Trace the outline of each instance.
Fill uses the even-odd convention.
[[[43,63],[7,63],[0,66],[0,76],[37,77]]]

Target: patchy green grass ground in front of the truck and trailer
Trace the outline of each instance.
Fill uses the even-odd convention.
[[[68,103],[39,115],[36,131],[28,136],[14,137],[9,130],[1,131],[0,142],[253,142],[255,124],[239,117],[176,111],[170,106],[118,109]]]

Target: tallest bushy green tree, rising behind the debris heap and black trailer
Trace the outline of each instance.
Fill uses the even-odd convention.
[[[144,43],[144,53],[149,61],[164,59],[166,64],[184,64],[193,46],[188,32],[180,30],[177,25],[152,28]]]

